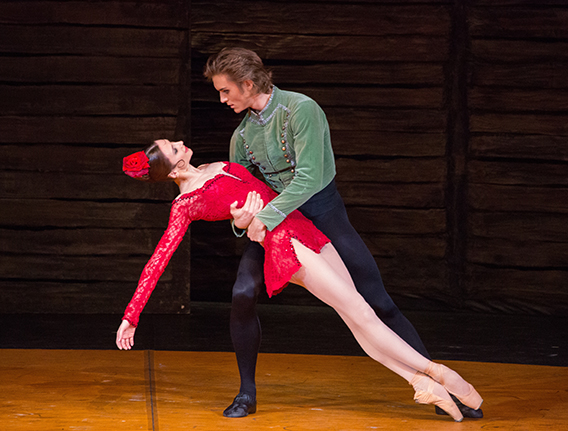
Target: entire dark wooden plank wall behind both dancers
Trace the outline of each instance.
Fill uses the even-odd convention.
[[[174,191],[120,159],[159,136],[226,159],[240,116],[201,70],[227,45],[326,110],[399,305],[565,312],[567,16],[565,0],[0,3],[0,312],[122,311]],[[226,222],[192,227],[193,299],[230,299],[242,245]],[[147,311],[187,310],[188,254]]]

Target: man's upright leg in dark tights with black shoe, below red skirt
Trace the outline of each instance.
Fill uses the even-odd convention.
[[[251,241],[243,252],[233,285],[231,339],[237,355],[241,387],[233,403],[223,412],[227,417],[243,417],[256,412],[255,371],[261,340],[256,301],[264,286],[263,264],[264,249]]]

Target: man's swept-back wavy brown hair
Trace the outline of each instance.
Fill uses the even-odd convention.
[[[203,76],[212,81],[215,75],[227,75],[239,88],[251,80],[257,93],[270,93],[272,89],[272,72],[266,70],[260,57],[250,49],[223,48],[209,57]]]

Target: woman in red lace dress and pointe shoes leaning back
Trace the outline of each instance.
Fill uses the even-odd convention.
[[[134,345],[138,317],[191,221],[234,218],[237,227],[246,228],[263,202],[275,196],[239,164],[217,162],[194,167],[190,164],[192,155],[183,142],[164,139],[124,159],[127,175],[145,181],[175,181],[180,195],[172,204],[168,228],[126,308],[116,337],[119,349]],[[481,406],[481,396],[459,374],[426,359],[377,317],[355,289],[329,239],[298,211],[267,232],[263,246],[269,296],[292,282],[333,307],[371,358],[413,386],[416,402],[437,405],[458,422],[463,416],[449,393],[468,407]]]

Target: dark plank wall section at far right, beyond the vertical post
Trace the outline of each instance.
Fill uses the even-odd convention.
[[[568,3],[470,15],[466,291],[475,308],[568,309]]]

